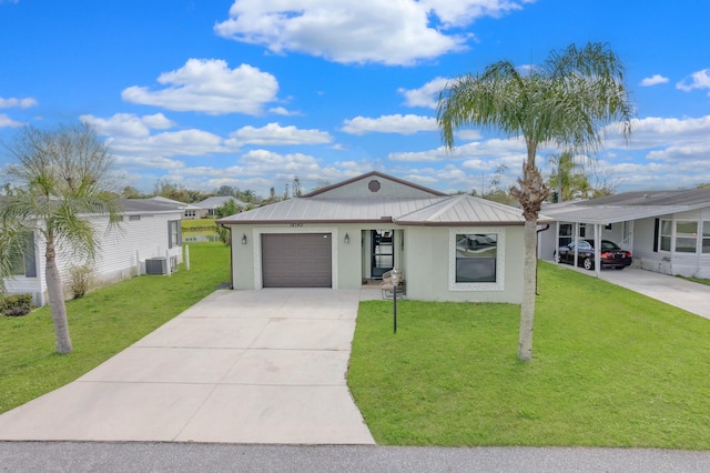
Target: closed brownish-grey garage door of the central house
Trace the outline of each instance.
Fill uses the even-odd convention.
[[[329,233],[262,234],[264,288],[331,288]]]

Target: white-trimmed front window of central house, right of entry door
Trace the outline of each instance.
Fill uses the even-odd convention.
[[[496,282],[497,233],[456,234],[456,282]]]

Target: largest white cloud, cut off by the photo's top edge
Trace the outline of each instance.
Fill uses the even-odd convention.
[[[235,0],[219,36],[341,63],[413,64],[465,49],[446,31],[527,0]]]

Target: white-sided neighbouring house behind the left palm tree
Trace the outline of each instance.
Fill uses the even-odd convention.
[[[145,260],[151,263],[149,272],[159,271],[155,268],[155,263],[160,266],[159,259],[165,259],[163,268],[169,263],[172,271],[182,262],[181,207],[151,199],[120,199],[120,204],[122,222],[111,230],[106,231],[106,215],[84,217],[94,223],[101,242],[92,266],[92,286],[144,274]],[[41,235],[36,233],[28,239],[23,261],[18,262],[16,274],[6,279],[8,293],[31,293],[36,305],[48,303],[44,251]],[[69,285],[74,264],[69,252],[58,251],[57,265],[67,296],[72,295]]]

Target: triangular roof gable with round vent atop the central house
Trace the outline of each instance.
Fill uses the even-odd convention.
[[[419,199],[446,195],[444,192],[427,189],[382,172],[367,174],[328,185],[310,192],[302,198],[353,198],[353,199]]]

